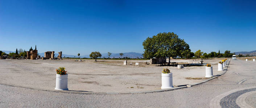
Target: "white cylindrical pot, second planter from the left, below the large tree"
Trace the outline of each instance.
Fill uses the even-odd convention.
[[[161,89],[168,89],[173,87],[173,73],[162,73]]]

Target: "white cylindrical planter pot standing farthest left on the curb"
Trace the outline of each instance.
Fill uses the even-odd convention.
[[[66,75],[56,74],[55,90],[69,90],[67,88],[67,74]]]

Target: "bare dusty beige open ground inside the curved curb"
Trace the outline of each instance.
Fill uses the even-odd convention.
[[[172,59],[173,61],[177,59]],[[94,61],[94,60],[91,60]],[[104,60],[123,63],[123,60]],[[138,62],[139,60],[128,60]],[[184,60],[179,60],[184,61]],[[216,59],[204,60],[212,63],[214,75],[219,75]],[[173,73],[173,85],[195,84],[205,80],[205,66],[192,66],[183,69],[177,67],[147,65],[116,66],[93,63],[90,61],[75,62],[69,60],[0,60],[0,84],[25,86],[29,88],[53,90],[58,67],[66,67],[68,71],[68,88],[77,91],[93,92],[131,92],[161,89],[161,72],[169,68]],[[186,79],[186,77],[202,78],[201,80]]]

